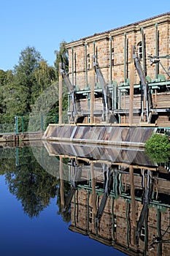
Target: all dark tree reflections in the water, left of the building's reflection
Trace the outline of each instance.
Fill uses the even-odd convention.
[[[37,146],[34,150],[36,149],[39,155],[42,155],[40,157],[46,159],[47,151],[45,148]],[[61,209],[61,195],[58,189],[61,181],[58,180],[56,176],[53,176],[53,174],[56,173],[50,174],[50,172],[45,171],[44,168],[39,165],[37,159],[34,157],[35,152],[33,153],[33,148],[4,148],[4,150],[7,150],[8,158],[5,158],[7,157],[5,152],[4,154],[1,152],[0,175],[5,176],[9,192],[15,195],[17,200],[20,201],[25,214],[30,218],[38,217],[41,211],[50,205],[51,198],[57,196],[57,214],[62,215],[64,222],[69,222],[71,217],[70,208],[64,213],[63,209]],[[16,154],[17,150],[18,154]],[[2,156],[4,156],[4,158],[2,158]],[[63,163],[66,167],[68,166],[68,161],[69,159],[63,159]],[[18,164],[16,165],[17,162]],[[56,170],[58,170],[58,168],[56,168]],[[68,181],[63,181],[65,200],[70,189],[71,187]]]

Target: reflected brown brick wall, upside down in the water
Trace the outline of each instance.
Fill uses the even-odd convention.
[[[118,179],[121,182],[121,186],[117,183],[120,191],[118,195],[111,192],[107,197],[97,229],[96,213],[104,192],[96,191],[96,203],[94,203],[93,189],[83,187],[78,189],[72,199],[72,224],[69,228],[108,246],[113,246],[128,255],[144,255],[144,252],[147,253],[146,255],[167,255],[170,249],[170,209],[168,204],[163,206],[163,202],[156,198],[163,193],[169,196],[169,181],[160,179],[159,183],[157,178],[153,181],[150,193],[150,197],[153,198],[150,200],[148,214],[145,217],[147,221],[143,222],[139,244],[136,244],[137,222],[144,206],[144,202],[139,199],[142,198],[142,176],[134,176],[134,192],[136,194],[139,191],[135,199],[133,199],[133,191],[130,192],[133,186],[130,174],[122,174]],[[162,242],[152,244],[154,236],[161,238]]]

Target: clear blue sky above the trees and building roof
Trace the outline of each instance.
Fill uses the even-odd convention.
[[[170,11],[170,0],[6,0],[0,4],[0,69],[13,69],[34,46],[53,66],[60,42],[125,26]]]

